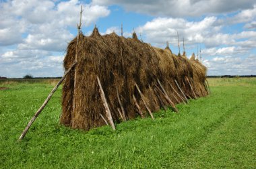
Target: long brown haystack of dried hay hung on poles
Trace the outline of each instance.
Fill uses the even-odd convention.
[[[100,99],[96,76],[100,78],[115,122],[133,119],[137,115],[146,116],[145,103],[152,111],[170,105],[168,98],[175,104],[180,103],[182,99],[174,93],[174,90],[180,93],[174,80],[177,80],[185,95],[191,98],[195,97],[187,78],[197,97],[207,95],[203,88],[205,67],[201,63],[175,56],[168,48],[162,50],[140,42],[135,33],[133,38],[123,38],[115,33],[101,36],[98,29],[94,28],[91,36],[80,34],[78,44],[77,46],[76,38],[69,43],[64,59],[67,70],[75,60],[75,49],[78,47],[76,87],[73,87],[74,70],[67,75],[63,84],[61,123],[64,125],[88,130],[105,124],[101,117],[106,117],[105,109]],[[139,94],[135,84],[143,95]],[[125,117],[119,113],[121,105],[125,110]]]

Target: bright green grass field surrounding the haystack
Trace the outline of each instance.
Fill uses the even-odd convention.
[[[0,168],[256,168],[256,78],[209,79],[212,94],[179,113],[117,124],[59,125],[61,89],[22,142],[51,80],[0,81]],[[8,88],[8,89],[6,89]]]

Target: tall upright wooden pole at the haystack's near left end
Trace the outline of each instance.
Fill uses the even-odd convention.
[[[82,25],[82,13],[83,13],[83,7],[81,5],[81,10],[80,10],[80,20],[79,20],[79,24],[77,25],[77,46],[75,48],[75,62],[77,62],[77,53],[78,53],[78,47],[79,47],[79,34],[80,34],[80,29],[81,29],[81,25]],[[77,86],[77,70],[75,69],[75,74],[74,74],[74,86],[73,86],[73,113],[75,111],[75,89]]]

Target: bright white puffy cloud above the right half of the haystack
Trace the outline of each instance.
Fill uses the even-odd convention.
[[[177,44],[177,32],[180,40],[185,38],[186,44],[202,43],[206,36],[218,31],[214,26],[216,17],[205,17],[201,21],[187,21],[182,18],[158,17],[137,27],[136,32],[146,36],[146,42],[163,44],[167,40],[170,44]]]

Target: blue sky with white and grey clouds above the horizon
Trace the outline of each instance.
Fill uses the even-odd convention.
[[[188,57],[201,48],[209,75],[256,74],[255,0],[0,0],[0,76],[62,76],[80,5],[86,35],[94,25],[120,35],[123,23],[124,36],[134,29],[177,53],[179,32]]]

